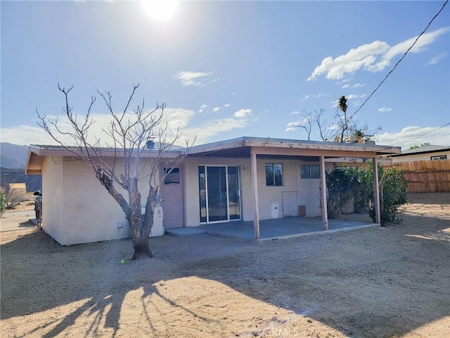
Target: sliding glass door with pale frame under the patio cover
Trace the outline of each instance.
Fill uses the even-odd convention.
[[[240,220],[239,167],[199,165],[200,223]]]

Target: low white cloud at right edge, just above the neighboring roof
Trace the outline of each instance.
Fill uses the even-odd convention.
[[[450,145],[450,127],[404,127],[399,132],[384,132],[376,137],[377,144],[386,146],[401,146],[408,149],[410,146],[430,142],[436,146]]]

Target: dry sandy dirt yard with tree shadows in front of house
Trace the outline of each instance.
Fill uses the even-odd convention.
[[[4,231],[0,336],[450,337],[450,194],[409,200],[401,225],[163,236],[143,261],[128,261],[129,240]]]

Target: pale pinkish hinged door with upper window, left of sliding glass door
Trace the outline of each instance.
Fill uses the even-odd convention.
[[[170,169],[164,168],[164,173],[168,173]],[[172,172],[162,182],[162,225],[165,229],[184,227],[183,175],[181,174],[181,168],[173,168]]]

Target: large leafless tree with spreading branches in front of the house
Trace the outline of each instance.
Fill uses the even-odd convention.
[[[172,171],[168,170],[167,173],[160,175],[158,173],[160,165],[164,164],[165,168],[174,168],[188,154],[188,151],[186,151],[184,155],[176,158],[167,156],[174,143],[180,139],[181,133],[176,130],[174,137],[171,140],[167,139],[168,125],[167,123],[162,125],[165,104],[157,104],[153,111],[146,111],[144,110],[145,102],[142,100],[140,106],[129,110],[138,87],[139,84],[133,84],[127,104],[119,113],[113,110],[110,92],[101,93],[97,91],[105,102],[111,117],[108,128],[103,129],[105,137],[110,140],[105,142],[106,146],[101,146],[101,139],[98,136],[95,137],[94,141],[89,138],[89,130],[95,122],[91,118],[91,109],[96,101],[95,97],[91,97],[91,104],[84,118],[79,119],[76,113],[72,113],[72,107],[69,104],[69,93],[73,86],[65,89],[58,84],[58,89],[65,96],[63,111],[65,118],[70,123],[70,131],[60,128],[58,118],[49,119],[37,111],[38,125],[60,146],[80,158],[80,161],[92,170],[98,182],[105,187],[122,208],[131,227],[131,242],[134,248],[132,259],[153,256],[148,245],[148,237],[153,227],[155,197],[159,196],[161,182]],[[68,146],[65,144],[61,139],[63,136],[69,137],[75,145]],[[148,157],[146,161],[143,161],[141,155],[146,151],[146,144],[150,139],[156,139],[155,144],[158,144],[158,149],[156,149],[155,155],[151,153],[151,161]],[[153,140],[150,142],[153,142]],[[195,139],[193,142],[195,142]],[[193,142],[190,143],[186,140],[188,150],[191,149]],[[118,165],[119,163],[123,164],[123,168],[122,165]],[[148,182],[149,190],[145,204],[146,211],[142,214],[138,182],[144,179]],[[117,191],[115,184],[127,191],[127,199]]]

